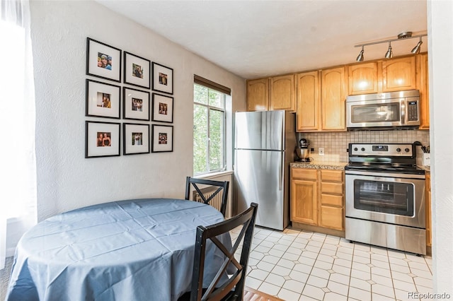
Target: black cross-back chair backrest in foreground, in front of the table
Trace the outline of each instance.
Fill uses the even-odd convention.
[[[224,300],[226,297],[232,297],[233,295],[236,297],[234,300],[242,300],[257,210],[258,204],[251,203],[250,208],[233,218],[207,227],[197,227],[190,301]],[[217,236],[235,228],[240,230],[239,236],[231,249],[229,249],[217,239]],[[203,288],[203,270],[208,240],[222,251],[225,259],[210,285],[207,288]],[[241,242],[241,259],[238,262],[234,257],[234,253],[241,245]],[[226,273],[229,274],[229,278],[225,277]],[[222,281],[227,280],[222,283],[221,279]]]

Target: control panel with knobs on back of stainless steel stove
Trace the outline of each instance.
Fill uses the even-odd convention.
[[[350,143],[349,155],[403,156],[415,155],[413,144],[408,143]]]

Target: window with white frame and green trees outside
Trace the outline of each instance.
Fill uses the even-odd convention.
[[[193,86],[193,174],[225,170],[225,100],[223,93],[205,78],[195,76]]]

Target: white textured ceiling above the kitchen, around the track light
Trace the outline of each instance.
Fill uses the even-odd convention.
[[[426,0],[96,1],[248,79],[354,63],[355,45],[427,33]],[[392,43],[394,57],[417,42]],[[365,61],[388,47],[366,46]]]

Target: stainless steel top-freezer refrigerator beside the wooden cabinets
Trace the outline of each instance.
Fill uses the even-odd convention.
[[[289,224],[289,163],[294,159],[295,114],[236,112],[234,179],[237,213],[258,203],[256,225],[284,230]]]

